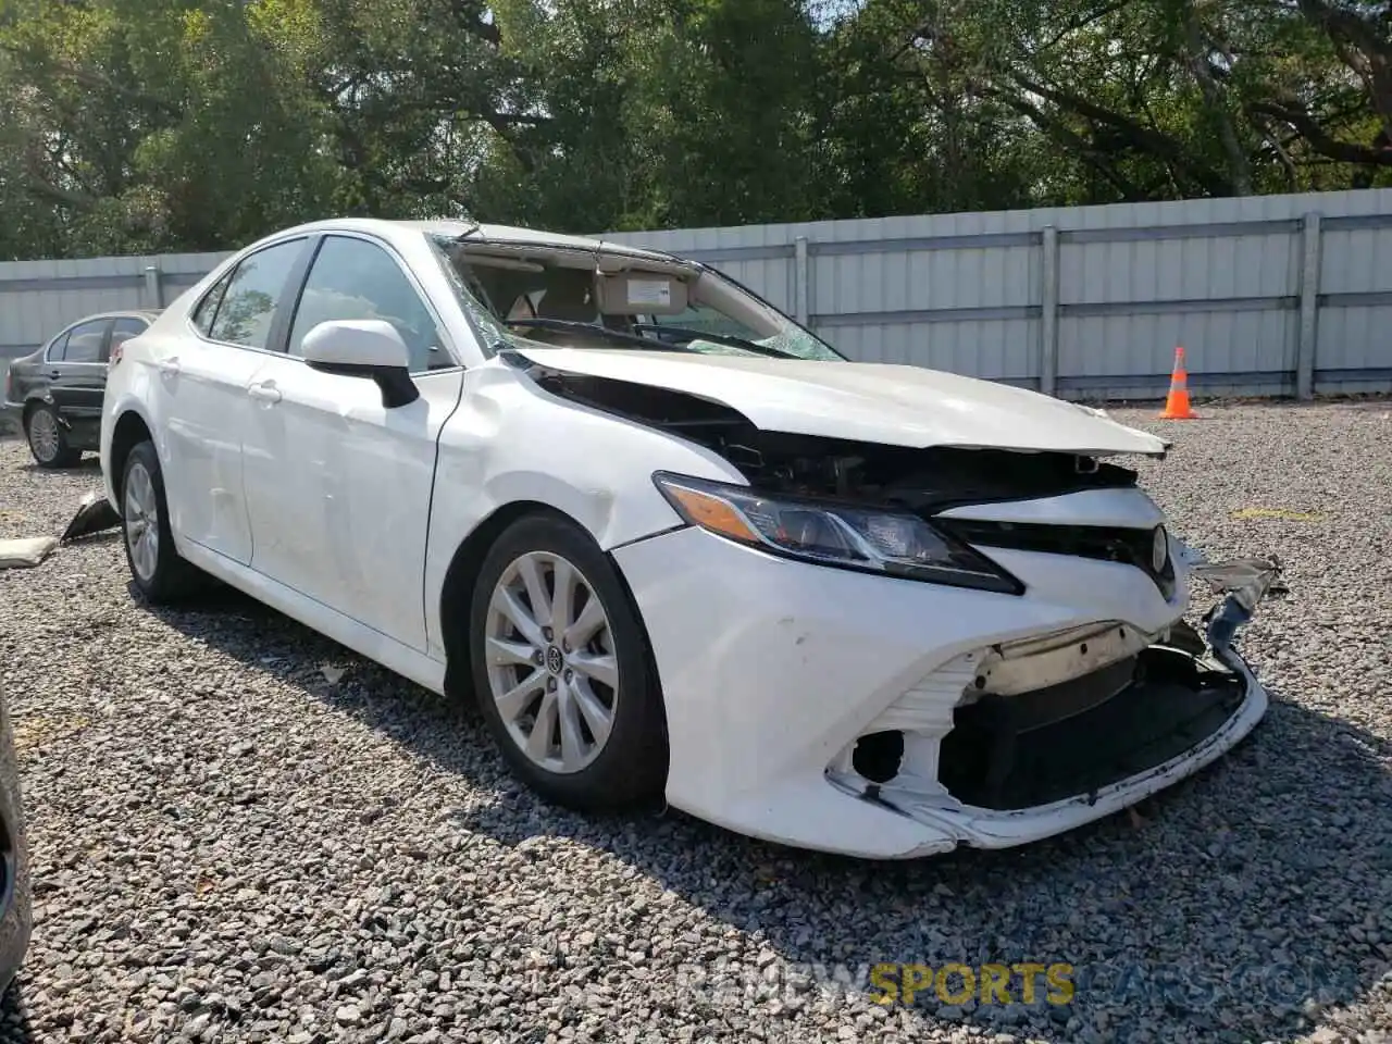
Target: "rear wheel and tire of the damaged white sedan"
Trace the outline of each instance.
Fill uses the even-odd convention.
[[[178,601],[202,585],[202,574],[180,557],[170,530],[164,475],[155,444],[138,444],[121,475],[121,543],[131,580],[152,606]]]

